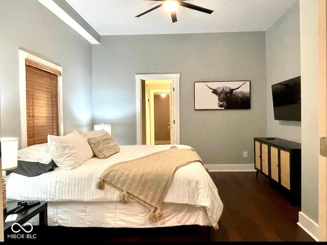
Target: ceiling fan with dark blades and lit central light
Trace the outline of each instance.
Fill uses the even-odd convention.
[[[172,7],[172,9],[170,9],[169,11],[171,13],[173,23],[177,22],[176,10],[177,10],[178,6],[201,11],[201,12],[204,12],[207,14],[211,14],[212,12],[214,12],[213,10],[210,10],[210,9],[206,9],[206,8],[202,8],[202,7],[193,5],[193,4],[185,3],[185,1],[187,1],[187,0],[144,0],[144,1],[161,1],[163,3],[153,7],[152,9],[149,9],[139,15],[136,15],[135,17],[139,17],[144,14],[147,14],[147,13],[151,12],[152,10],[155,10],[161,6],[168,7],[168,8]]]

